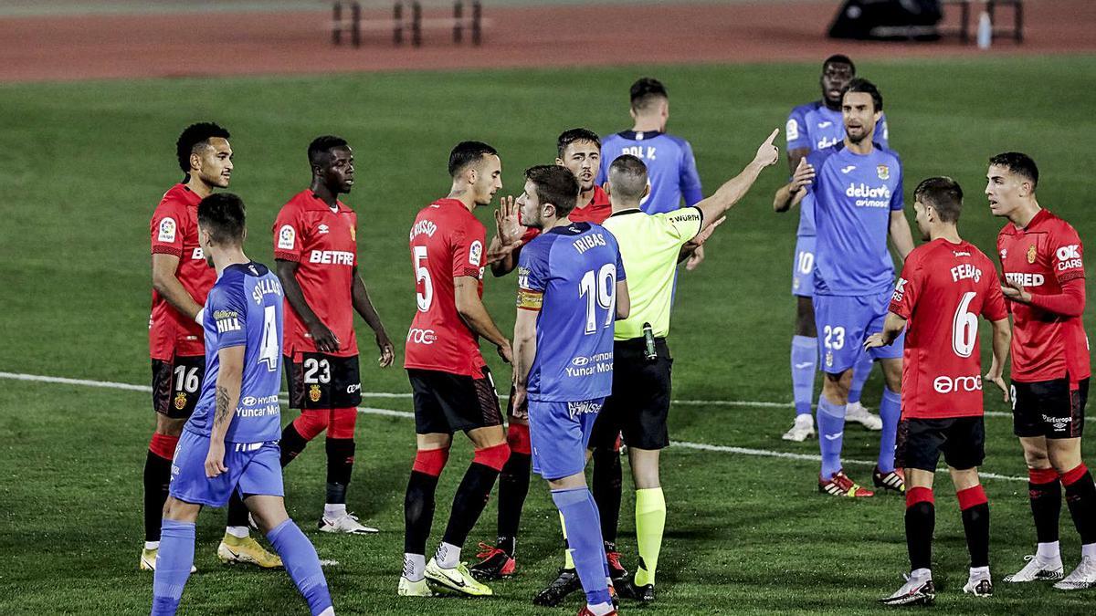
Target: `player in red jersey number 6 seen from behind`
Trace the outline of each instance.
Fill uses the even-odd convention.
[[[1008,399],[1001,375],[1011,336],[1008,312],[993,262],[959,237],[962,189],[950,178],[929,178],[914,191],[913,208],[928,243],[906,256],[883,331],[864,344],[890,344],[909,327],[897,457],[905,469],[911,573],[901,589],[880,600],[887,605],[929,604],[936,596],[929,562],[936,524],[933,478],[941,453],[970,550],[970,574],[962,590],[975,596],[993,594],[990,504],[978,478],[985,458],[979,316],[993,323],[993,364],[985,379]]]

